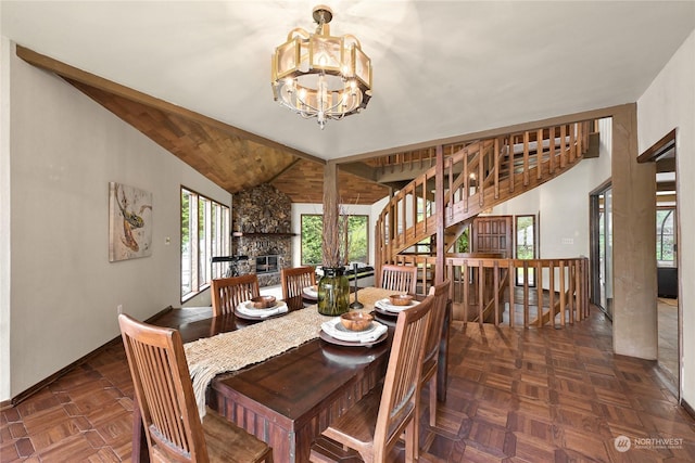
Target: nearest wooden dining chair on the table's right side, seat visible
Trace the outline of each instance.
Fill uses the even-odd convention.
[[[350,461],[355,452],[365,462],[392,461],[390,452],[394,452],[402,436],[405,461],[417,460],[419,385],[433,305],[434,297],[428,296],[399,313],[382,386],[372,389],[323,432],[323,438],[312,446],[312,461]]]

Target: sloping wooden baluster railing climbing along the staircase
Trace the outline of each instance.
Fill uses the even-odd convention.
[[[438,223],[434,210],[433,166],[400,190],[377,219],[377,271],[434,235],[438,227],[453,228],[573,167],[589,149],[592,127],[591,121],[580,121],[442,146],[450,153],[444,159],[444,223]],[[431,164],[433,152],[420,153],[419,162]],[[392,163],[399,160],[405,158]],[[446,240],[446,246],[451,244]]]

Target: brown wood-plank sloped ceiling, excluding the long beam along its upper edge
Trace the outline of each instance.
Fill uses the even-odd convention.
[[[293,203],[323,203],[324,165],[265,146],[181,115],[66,79],[75,88],[229,193],[269,183]],[[389,194],[384,185],[339,173],[345,204],[372,204]]]

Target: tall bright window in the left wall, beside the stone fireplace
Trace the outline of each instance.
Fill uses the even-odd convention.
[[[181,300],[220,276],[213,274],[211,260],[228,255],[229,207],[181,188]]]

